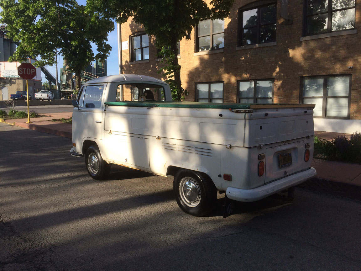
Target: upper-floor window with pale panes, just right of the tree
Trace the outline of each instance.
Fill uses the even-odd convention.
[[[196,52],[225,47],[225,21],[204,20],[197,27]]]

